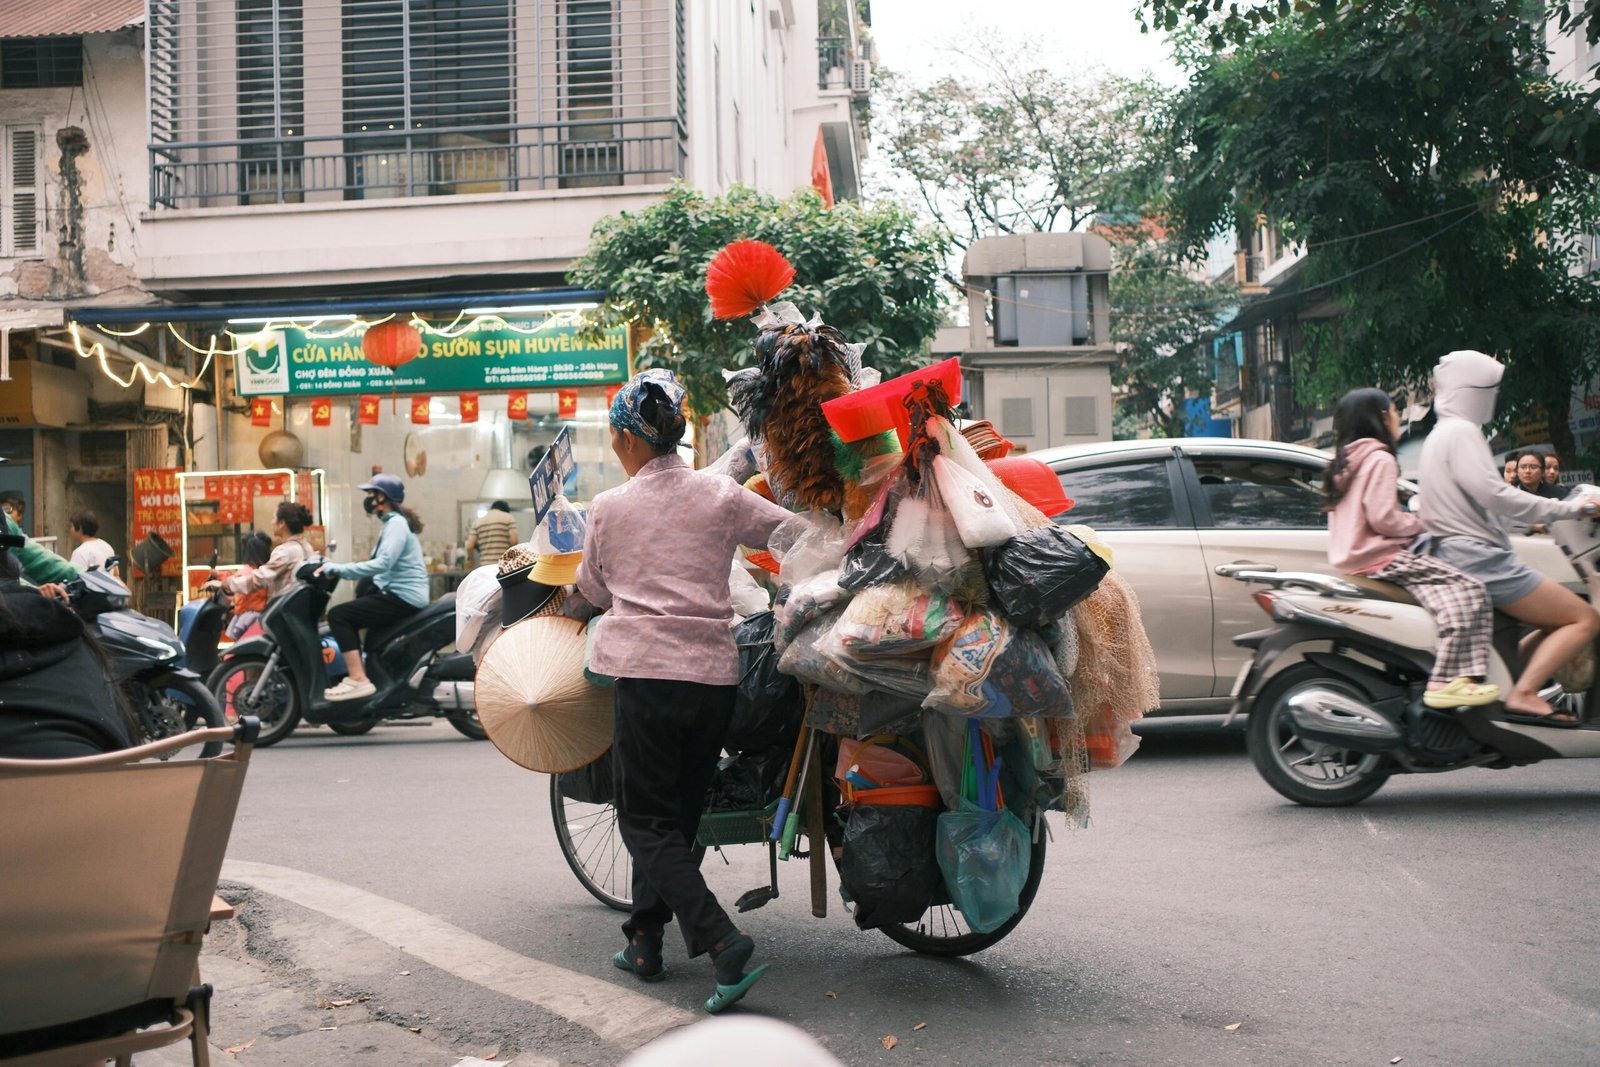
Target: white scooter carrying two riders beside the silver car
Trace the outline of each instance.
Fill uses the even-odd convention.
[[[1590,486],[1578,491],[1595,493]],[[1600,603],[1600,522],[1563,520],[1550,533],[1590,601]],[[1509,721],[1501,702],[1435,710],[1422,704],[1434,665],[1434,616],[1400,585],[1254,563],[1229,563],[1216,573],[1266,587],[1254,600],[1274,625],[1234,638],[1254,649],[1254,659],[1235,685],[1229,721],[1248,710],[1251,761],[1296,803],[1360,803],[1390,774],[1600,757],[1595,649],[1563,667],[1541,693],[1578,718],[1578,728]],[[1510,691],[1522,670],[1518,640],[1526,632],[1496,613],[1488,681],[1501,693]],[[1291,649],[1301,662],[1274,673]]]

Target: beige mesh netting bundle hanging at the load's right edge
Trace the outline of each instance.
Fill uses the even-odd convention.
[[[1072,619],[1078,629],[1072,693],[1085,742],[1096,768],[1112,768],[1139,744],[1128,725],[1162,701],[1155,649],[1144,632],[1139,600],[1117,573],[1072,609]]]

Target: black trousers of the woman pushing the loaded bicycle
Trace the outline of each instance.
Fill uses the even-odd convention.
[[[677,915],[691,957],[738,933],[691,853],[733,694],[731,685],[616,680],[616,814],[634,857],[634,913],[622,933],[659,931]]]

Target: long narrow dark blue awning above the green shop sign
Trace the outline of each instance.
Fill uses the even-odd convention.
[[[595,290],[534,290],[522,293],[448,293],[438,296],[374,296],[282,304],[171,304],[144,307],[74,307],[75,322],[120,326],[146,322],[226,322],[230,318],[333,318],[336,315],[456,314],[475,307],[549,307],[597,304]]]

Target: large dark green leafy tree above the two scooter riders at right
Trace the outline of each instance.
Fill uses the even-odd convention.
[[[1512,365],[1509,408],[1547,418],[1570,451],[1568,398],[1597,363],[1600,302],[1573,270],[1600,226],[1595,178],[1574,142],[1528,136],[1485,91],[1552,85],[1542,30],[1506,18],[1499,37],[1451,45],[1456,8],[1483,5],[1304,6],[1195,69],[1170,109],[1179,240],[1198,250],[1264,218],[1306,245],[1307,296],[1342,314],[1306,330],[1301,400],[1424,386],[1445,352],[1480,349]],[[1442,51],[1398,62],[1419,38]]]

